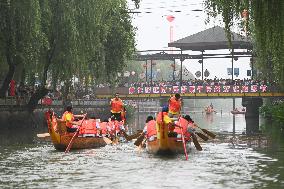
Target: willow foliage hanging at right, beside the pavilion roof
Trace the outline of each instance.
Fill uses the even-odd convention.
[[[284,89],[284,1],[205,0],[210,17],[221,15],[230,39],[235,23],[246,26],[254,42],[257,68],[262,79],[276,81]],[[247,22],[241,13],[249,12]]]

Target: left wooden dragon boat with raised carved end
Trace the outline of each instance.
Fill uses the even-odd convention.
[[[51,111],[45,113],[50,139],[56,150],[64,151],[74,133],[66,131],[65,122],[57,118]],[[74,139],[71,149],[98,148],[109,144],[108,134],[99,135],[96,131],[95,119],[86,119],[82,122],[78,136]],[[101,134],[101,133],[100,133]]]

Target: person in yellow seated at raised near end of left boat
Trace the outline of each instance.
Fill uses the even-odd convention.
[[[81,122],[74,121],[75,118],[82,118],[85,115],[74,115],[72,112],[72,106],[68,105],[66,111],[62,115],[62,120],[66,123],[67,132],[73,133],[76,132],[78,126],[81,125]]]

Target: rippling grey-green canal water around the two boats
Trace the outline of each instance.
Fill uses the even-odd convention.
[[[188,161],[183,154],[148,154],[133,142],[64,154],[38,140],[35,132],[7,137],[9,133],[0,140],[0,188],[284,188],[284,132],[279,124],[261,120],[261,134],[246,136],[244,115],[235,117],[235,133],[229,111],[191,116],[218,136],[200,141],[201,152],[192,145]]]

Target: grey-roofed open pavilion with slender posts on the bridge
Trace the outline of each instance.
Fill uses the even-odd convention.
[[[201,78],[203,80],[203,59],[205,58],[232,58],[232,80],[234,77],[234,59],[238,57],[252,57],[252,43],[245,37],[235,32],[231,33],[231,43],[228,41],[225,29],[220,26],[214,26],[188,37],[168,43],[168,47],[179,48],[181,54],[183,51],[200,51],[202,64]],[[205,50],[231,49],[230,54],[205,54]],[[234,49],[247,49],[247,52],[234,52]],[[181,59],[181,64],[183,59]],[[182,66],[182,65],[181,65]],[[253,70],[253,67],[252,67]],[[181,74],[182,77],[182,74]],[[182,80],[182,78],[181,78]]]

